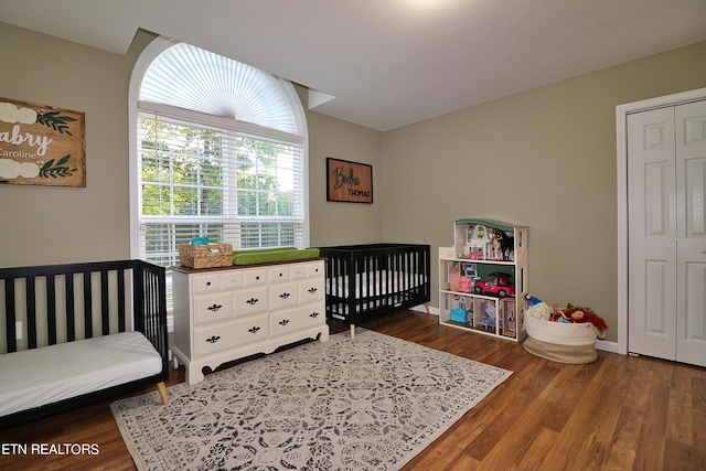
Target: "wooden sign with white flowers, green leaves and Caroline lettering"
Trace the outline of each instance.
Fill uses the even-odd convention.
[[[0,183],[86,186],[85,114],[0,97]]]

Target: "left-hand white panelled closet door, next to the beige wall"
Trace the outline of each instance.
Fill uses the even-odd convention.
[[[676,356],[674,108],[628,116],[628,351]]]

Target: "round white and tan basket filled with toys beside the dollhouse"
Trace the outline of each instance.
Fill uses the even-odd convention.
[[[596,338],[600,331],[592,321],[602,322],[605,325],[602,319],[588,309],[574,307],[565,310],[555,307],[553,315],[547,304],[538,298],[525,295],[525,300],[527,301],[525,310],[527,339],[524,342],[524,349],[527,352],[553,362],[568,364],[591,363],[598,358]],[[547,310],[549,310],[548,313]],[[579,322],[569,322],[573,313]],[[552,322],[555,315],[558,315],[556,319],[560,318],[566,322]]]

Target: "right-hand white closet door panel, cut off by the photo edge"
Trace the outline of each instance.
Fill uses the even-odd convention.
[[[706,101],[675,108],[676,360],[706,366]]]

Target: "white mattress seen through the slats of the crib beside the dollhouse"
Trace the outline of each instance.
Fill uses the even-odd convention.
[[[368,296],[386,296],[424,286],[427,276],[405,271],[374,270],[359,274],[355,279],[355,299]],[[327,295],[349,298],[349,276],[327,280]]]

